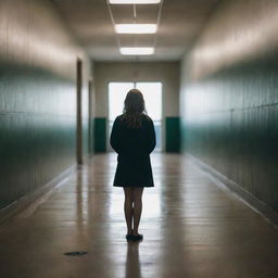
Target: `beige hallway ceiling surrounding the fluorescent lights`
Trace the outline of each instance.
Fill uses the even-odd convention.
[[[52,0],[78,42],[96,61],[177,61],[219,0],[164,0],[157,34],[116,35],[106,0]],[[132,23],[134,5],[111,4],[115,23]],[[137,23],[156,23],[160,4],[136,5]],[[121,47],[155,47],[150,56],[121,55]]]

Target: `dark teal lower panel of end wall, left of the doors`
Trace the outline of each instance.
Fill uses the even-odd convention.
[[[94,118],[94,152],[106,151],[106,118],[96,117]]]

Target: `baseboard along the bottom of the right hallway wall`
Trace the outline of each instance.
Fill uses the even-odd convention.
[[[190,153],[186,153],[190,160],[197,164],[201,169],[207,173],[208,177],[220,188],[225,190],[229,190],[237,195],[238,199],[243,201],[247,205],[249,205],[253,211],[262,215],[266,222],[273,225],[275,228],[278,228],[278,213],[275,212],[271,207],[269,207],[266,203],[262,202],[250,192],[245,191],[241,186],[236,184],[235,181],[228,179],[226,176],[203,163],[195,156]]]

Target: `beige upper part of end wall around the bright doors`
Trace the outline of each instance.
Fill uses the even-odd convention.
[[[164,118],[179,116],[179,62],[96,62],[96,117],[109,117],[109,83],[161,81],[164,150]]]

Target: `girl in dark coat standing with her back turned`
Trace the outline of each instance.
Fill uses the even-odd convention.
[[[141,240],[138,227],[143,188],[154,186],[150,153],[155,148],[155,132],[139,90],[128,91],[124,113],[113,124],[110,143],[118,154],[113,186],[123,187],[125,192],[126,239]]]

